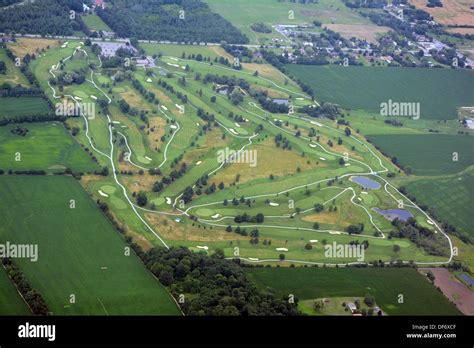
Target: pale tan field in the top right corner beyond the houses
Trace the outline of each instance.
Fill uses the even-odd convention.
[[[420,8],[444,25],[474,25],[474,10],[472,0],[443,0],[443,7],[426,7],[426,0],[410,0],[412,5]]]

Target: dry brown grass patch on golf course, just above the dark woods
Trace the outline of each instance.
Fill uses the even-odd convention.
[[[211,229],[207,227],[204,229],[192,226],[191,224],[184,224],[182,222],[175,222],[173,219],[148,213],[145,215],[148,222],[156,228],[167,240],[180,240],[180,241],[196,241],[196,242],[215,242],[215,241],[238,241],[246,240],[244,236],[240,236],[236,233],[229,233],[226,231],[220,231],[217,229]]]

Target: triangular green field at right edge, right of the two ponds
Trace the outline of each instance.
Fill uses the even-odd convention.
[[[407,190],[420,203],[433,209],[442,221],[474,237],[472,198],[474,175],[472,170],[452,177],[422,178],[406,184]]]

